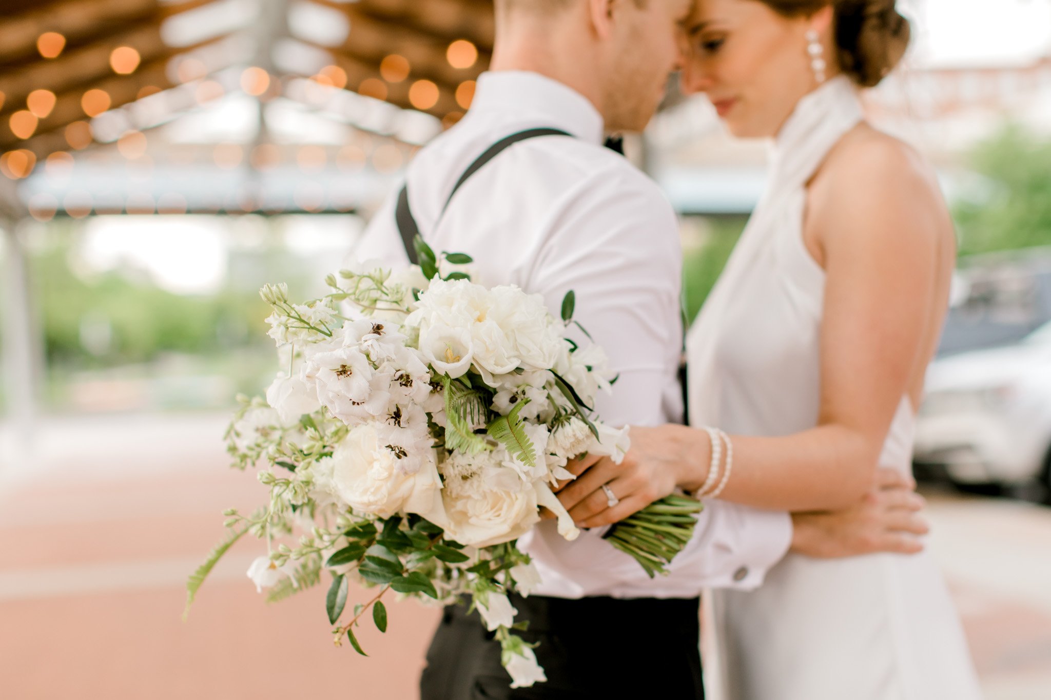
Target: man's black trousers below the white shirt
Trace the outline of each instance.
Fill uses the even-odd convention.
[[[516,632],[539,642],[548,682],[511,688],[500,643],[466,604],[446,608],[427,653],[421,700],[703,700],[700,600],[511,596]]]

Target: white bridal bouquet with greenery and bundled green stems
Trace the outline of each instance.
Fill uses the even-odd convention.
[[[623,458],[627,429],[590,408],[616,378],[601,347],[565,338],[572,292],[555,318],[539,295],[472,282],[468,255],[439,258],[421,239],[416,249],[419,266],[354,266],[304,304],[284,284],[263,289],[284,369],[266,400],[241,398],[227,440],[235,467],[265,467],[270,500],[251,515],[225,513],[229,535],[190,576],[187,611],[215,563],[251,533],[267,553],[248,575],[270,600],[328,572],[336,645],[347,638],[364,654],[354,628],[370,614],[386,631],[391,591],[446,604],[469,597],[513,685],[532,685],[543,670],[514,634],[507,594],[528,595],[539,576],[515,542],[541,507],[561,536],[579,534],[552,487],[573,478],[574,458]],[[607,540],[654,576],[689,539],[699,510],[669,496]],[[345,614],[351,580],[374,595]]]

